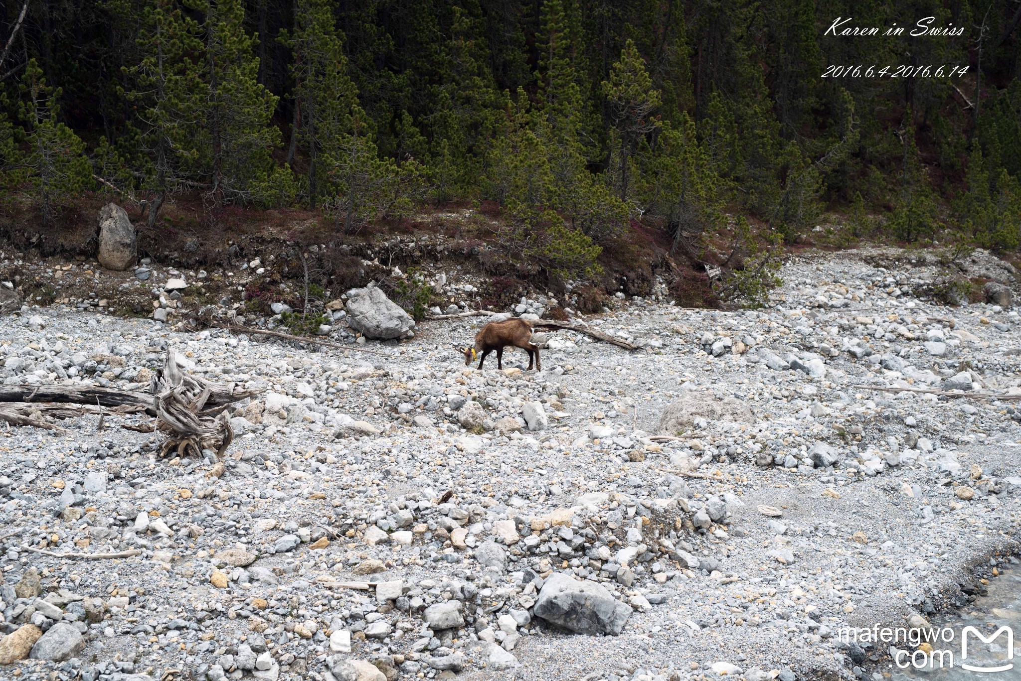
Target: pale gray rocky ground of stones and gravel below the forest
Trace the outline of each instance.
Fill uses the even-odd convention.
[[[338,350],[107,317],[84,290],[21,308],[5,387],[144,389],[173,349],[265,392],[223,461],[156,458],[138,415],[0,431],[0,675],[881,680],[886,650],[842,627],[1016,563],[1014,272],[958,266],[1001,304],[936,302],[932,256],[809,253],[760,309],[576,315],[642,349],[549,334],[541,372],[520,350],[466,368],[479,318],[367,343],[337,304]],[[175,309],[190,273],[145,270]]]

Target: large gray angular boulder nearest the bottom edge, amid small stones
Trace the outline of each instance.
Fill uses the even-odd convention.
[[[532,612],[578,634],[617,636],[633,611],[594,582],[555,573],[542,585]]]

